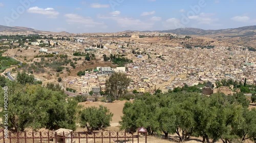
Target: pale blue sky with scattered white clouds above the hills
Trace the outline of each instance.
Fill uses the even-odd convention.
[[[0,25],[105,33],[256,25],[255,0],[0,0]]]

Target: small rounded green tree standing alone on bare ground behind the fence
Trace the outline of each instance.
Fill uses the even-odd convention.
[[[93,130],[105,129],[110,126],[110,121],[112,121],[113,113],[104,106],[88,107],[82,109],[79,113],[80,126],[82,128],[87,128],[89,133]]]

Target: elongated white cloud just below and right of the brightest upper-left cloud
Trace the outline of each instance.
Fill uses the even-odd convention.
[[[104,23],[96,22],[91,17],[83,17],[77,14],[66,14],[68,24],[82,24],[86,27],[104,26]]]

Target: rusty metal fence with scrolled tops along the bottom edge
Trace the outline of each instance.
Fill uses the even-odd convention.
[[[0,130],[0,143],[103,143],[103,142],[139,142],[138,134],[123,131],[95,131],[87,132],[18,132]],[[145,141],[146,142],[146,141]]]

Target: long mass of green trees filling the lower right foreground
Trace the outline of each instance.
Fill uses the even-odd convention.
[[[125,103],[120,125],[128,132],[143,126],[149,134],[164,133],[166,139],[176,133],[180,141],[190,136],[201,136],[203,142],[244,141],[256,137],[256,112],[248,107],[244,94],[144,94]]]

